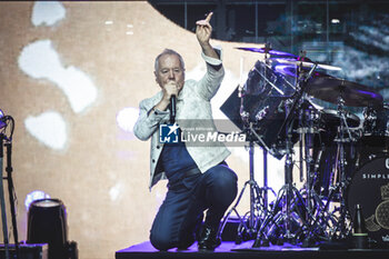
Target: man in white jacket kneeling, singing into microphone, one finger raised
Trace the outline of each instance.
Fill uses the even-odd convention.
[[[210,100],[220,87],[225,70],[221,54],[209,43],[211,16],[198,21],[196,28],[207,73],[199,81],[184,81],[181,56],[166,49],[154,63],[161,91],[140,102],[133,129],[140,140],[151,137],[150,188],[160,179],[168,179],[168,192],[150,232],[150,241],[159,250],[187,249],[196,239],[199,250],[215,250],[220,245],[217,237],[220,220],[237,196],[237,176],[225,162],[230,152],[223,143],[203,147],[183,141],[163,143],[159,139],[160,126],[168,124],[172,110],[178,121],[190,121],[191,127],[200,128],[201,121],[212,121]]]

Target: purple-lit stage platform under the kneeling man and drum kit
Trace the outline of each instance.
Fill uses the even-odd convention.
[[[223,241],[215,252],[199,252],[197,243],[188,250],[171,249],[169,251],[156,250],[149,241],[131,246],[116,252],[116,259],[161,259],[161,258],[222,258],[222,259],[388,259],[389,249],[319,249],[299,248],[292,245],[270,246],[268,248],[252,248],[252,240],[240,245],[233,241]]]

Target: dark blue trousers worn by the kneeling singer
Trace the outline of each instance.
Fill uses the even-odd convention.
[[[202,175],[170,185],[150,231],[151,245],[158,250],[188,248],[202,222],[218,229],[221,218],[237,196],[237,175],[226,165],[218,165]]]

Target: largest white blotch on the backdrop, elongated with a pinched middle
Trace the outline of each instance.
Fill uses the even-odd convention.
[[[74,112],[82,112],[97,99],[97,88],[81,70],[64,68],[50,40],[38,40],[23,48],[19,67],[36,79],[48,79],[67,96]]]

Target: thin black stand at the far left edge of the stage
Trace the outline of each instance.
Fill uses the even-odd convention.
[[[6,200],[4,200],[4,187],[3,187],[3,180],[8,180],[8,191],[9,191],[9,199],[10,199],[10,207],[11,207],[11,218],[12,218],[12,227],[13,227],[13,238],[14,238],[14,249],[16,249],[16,259],[20,258],[19,255],[19,240],[18,240],[18,226],[17,226],[17,216],[16,216],[16,208],[14,208],[14,188],[13,188],[13,181],[12,181],[12,166],[11,166],[11,153],[12,153],[12,136],[13,136],[13,127],[14,121],[13,118],[10,116],[1,117],[2,121],[11,121],[11,135],[9,138],[4,136],[2,132],[0,132],[0,175],[1,175],[1,181],[0,181],[0,207],[1,207],[1,220],[2,220],[2,231],[3,231],[3,242],[4,242],[4,253],[6,259],[10,258],[9,253],[9,239],[8,239],[8,226],[7,226],[7,212],[6,212]],[[8,124],[7,124],[8,126]],[[7,127],[6,126],[6,127]],[[6,143],[4,143],[6,141]],[[7,177],[3,176],[3,146],[6,146],[7,149]]]

